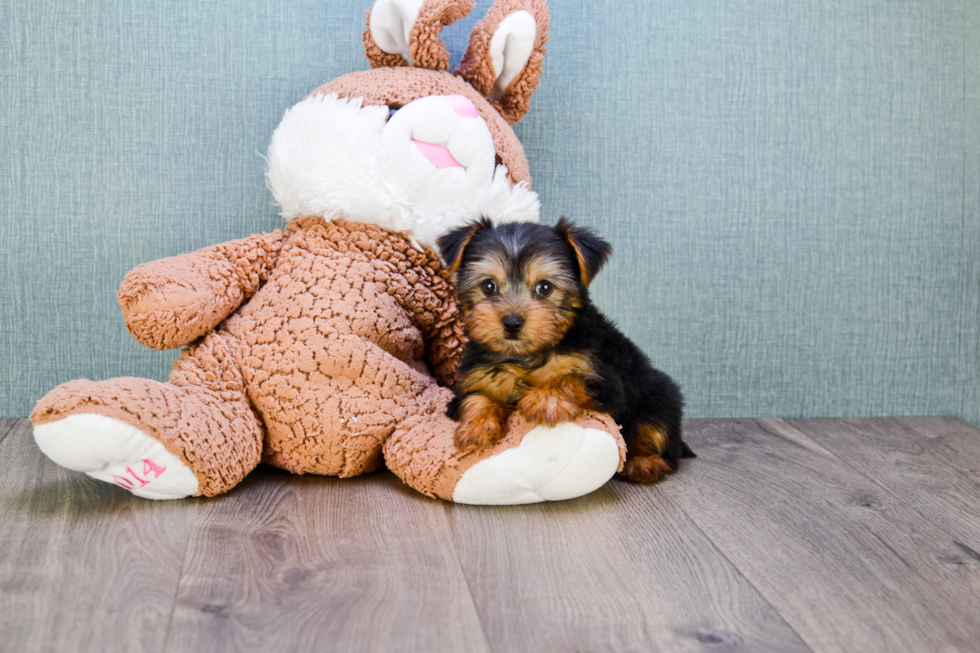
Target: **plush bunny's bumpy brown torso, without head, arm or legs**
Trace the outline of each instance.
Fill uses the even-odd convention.
[[[459,311],[438,258],[379,227],[308,218],[269,282],[224,325],[244,340],[265,458],[298,473],[355,476],[413,414],[455,383]]]

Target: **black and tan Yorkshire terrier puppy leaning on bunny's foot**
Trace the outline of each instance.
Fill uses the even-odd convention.
[[[554,426],[594,409],[622,427],[631,481],[658,481],[694,456],[681,439],[680,388],[589,300],[606,241],[565,218],[554,227],[483,219],[439,248],[457,273],[469,336],[447,410],[461,451],[497,442],[514,410]]]

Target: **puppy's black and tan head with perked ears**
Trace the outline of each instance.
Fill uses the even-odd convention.
[[[457,273],[470,338],[516,356],[558,344],[612,251],[565,218],[554,227],[483,219],[444,235],[439,249]]]

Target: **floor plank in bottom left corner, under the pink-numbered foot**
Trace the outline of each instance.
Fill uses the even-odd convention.
[[[0,649],[162,651],[195,501],[138,499],[0,442]]]

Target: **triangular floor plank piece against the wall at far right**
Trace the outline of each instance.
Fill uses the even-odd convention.
[[[916,418],[761,422],[804,433],[935,523],[946,549],[940,560],[951,569],[980,566],[980,430],[931,420],[915,429]]]

